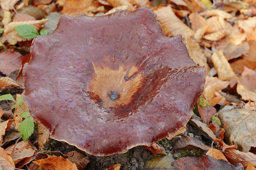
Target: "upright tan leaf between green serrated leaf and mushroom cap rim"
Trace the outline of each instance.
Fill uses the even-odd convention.
[[[39,121],[36,121],[36,122],[37,122],[37,129],[38,129],[38,147],[39,147],[39,149],[42,149],[42,147],[44,147],[44,144],[49,139],[50,132]]]

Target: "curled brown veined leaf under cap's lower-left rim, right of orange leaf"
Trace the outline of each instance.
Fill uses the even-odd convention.
[[[84,154],[81,154],[77,151],[71,151],[65,154],[65,156],[68,156],[68,160],[76,164],[76,167],[79,170],[83,170],[84,167],[89,163],[89,157],[85,156]]]

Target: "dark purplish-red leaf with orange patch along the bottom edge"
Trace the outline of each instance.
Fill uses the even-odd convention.
[[[229,162],[207,155],[196,158],[189,156],[179,158],[172,162],[172,165],[180,170],[236,170]]]

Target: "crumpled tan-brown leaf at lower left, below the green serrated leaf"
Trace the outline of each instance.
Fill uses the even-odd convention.
[[[6,153],[12,157],[16,167],[23,167],[29,163],[29,159],[35,154],[35,150],[37,150],[36,147],[29,141],[21,141],[5,149]]]

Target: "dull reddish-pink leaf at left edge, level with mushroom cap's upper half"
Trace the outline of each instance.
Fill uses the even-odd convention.
[[[15,70],[20,69],[23,56],[19,52],[6,50],[1,51],[0,55],[0,71],[3,74],[9,76]]]

